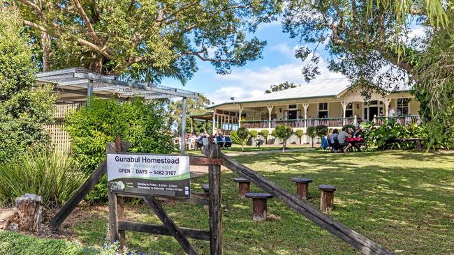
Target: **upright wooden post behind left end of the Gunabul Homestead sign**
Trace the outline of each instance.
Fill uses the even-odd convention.
[[[109,151],[108,153],[112,153]],[[122,139],[119,134],[115,137],[115,153],[122,152]],[[118,222],[124,221],[124,199],[123,196],[117,196],[115,192],[109,190],[109,231],[110,242],[120,242],[120,247],[123,249],[126,246],[126,235],[124,230],[118,229]]]

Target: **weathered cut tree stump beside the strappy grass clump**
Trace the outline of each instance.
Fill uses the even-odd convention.
[[[16,212],[8,219],[8,229],[15,229],[17,224],[20,231],[38,231],[43,215],[43,197],[35,194],[24,194],[16,199]]]

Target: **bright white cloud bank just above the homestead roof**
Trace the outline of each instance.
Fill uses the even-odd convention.
[[[243,69],[234,70],[230,75],[216,75],[215,80],[223,84],[212,93],[207,93],[207,98],[215,104],[230,101],[231,97],[235,100],[250,98],[263,94],[273,84],[281,82],[294,82],[295,84],[306,84],[301,69],[305,63],[293,62],[275,67],[264,66],[258,70]],[[323,59],[318,63],[321,75],[316,79],[330,79],[342,77],[341,74],[330,72]]]

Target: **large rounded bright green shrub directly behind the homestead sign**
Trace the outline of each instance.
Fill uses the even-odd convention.
[[[92,98],[89,107],[69,114],[65,129],[70,135],[72,155],[87,174],[105,160],[105,144],[117,134],[130,141],[131,153],[168,154],[175,150],[162,105],[135,98],[126,102]],[[85,198],[107,201],[105,183]]]

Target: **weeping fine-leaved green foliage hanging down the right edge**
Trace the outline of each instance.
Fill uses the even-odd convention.
[[[432,34],[427,49],[415,58],[416,98],[421,102],[420,114],[430,126],[430,144],[444,139],[454,141],[454,8],[447,11],[451,21]]]

